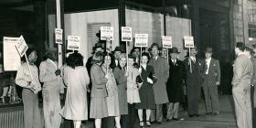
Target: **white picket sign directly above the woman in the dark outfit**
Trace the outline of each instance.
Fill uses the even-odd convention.
[[[146,48],[148,44],[148,34],[135,34],[135,47]]]

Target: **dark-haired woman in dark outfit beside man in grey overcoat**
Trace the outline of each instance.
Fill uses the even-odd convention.
[[[151,110],[155,109],[155,95],[153,91],[153,84],[156,81],[154,77],[154,68],[147,64],[150,59],[148,53],[143,53],[141,58],[141,78],[143,80],[142,84],[139,84],[139,94],[141,102],[136,104],[136,109],[138,109],[138,115],[140,119],[140,127],[144,127],[143,121],[143,110],[146,112],[146,125],[150,126],[150,114]]]

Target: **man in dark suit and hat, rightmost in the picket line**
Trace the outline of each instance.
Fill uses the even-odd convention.
[[[220,83],[220,68],[219,60],[213,59],[212,48],[207,48],[205,51],[204,72],[203,72],[203,91],[206,101],[206,113],[219,114],[219,95],[218,86]]]

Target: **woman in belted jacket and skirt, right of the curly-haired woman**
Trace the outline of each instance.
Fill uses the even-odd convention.
[[[106,97],[106,84],[110,79],[109,73],[104,73],[101,69],[104,54],[97,52],[92,58],[91,67],[91,106],[90,118],[95,119],[95,127],[101,128],[101,119],[108,116],[108,108]]]

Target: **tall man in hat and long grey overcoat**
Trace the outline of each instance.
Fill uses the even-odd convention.
[[[153,111],[153,114],[151,114],[151,121],[161,124],[163,120],[163,104],[168,102],[166,81],[169,77],[169,65],[165,58],[159,56],[159,47],[156,43],[153,43],[151,48],[153,58],[149,60],[149,65],[153,66],[157,79],[153,85],[156,111]]]

